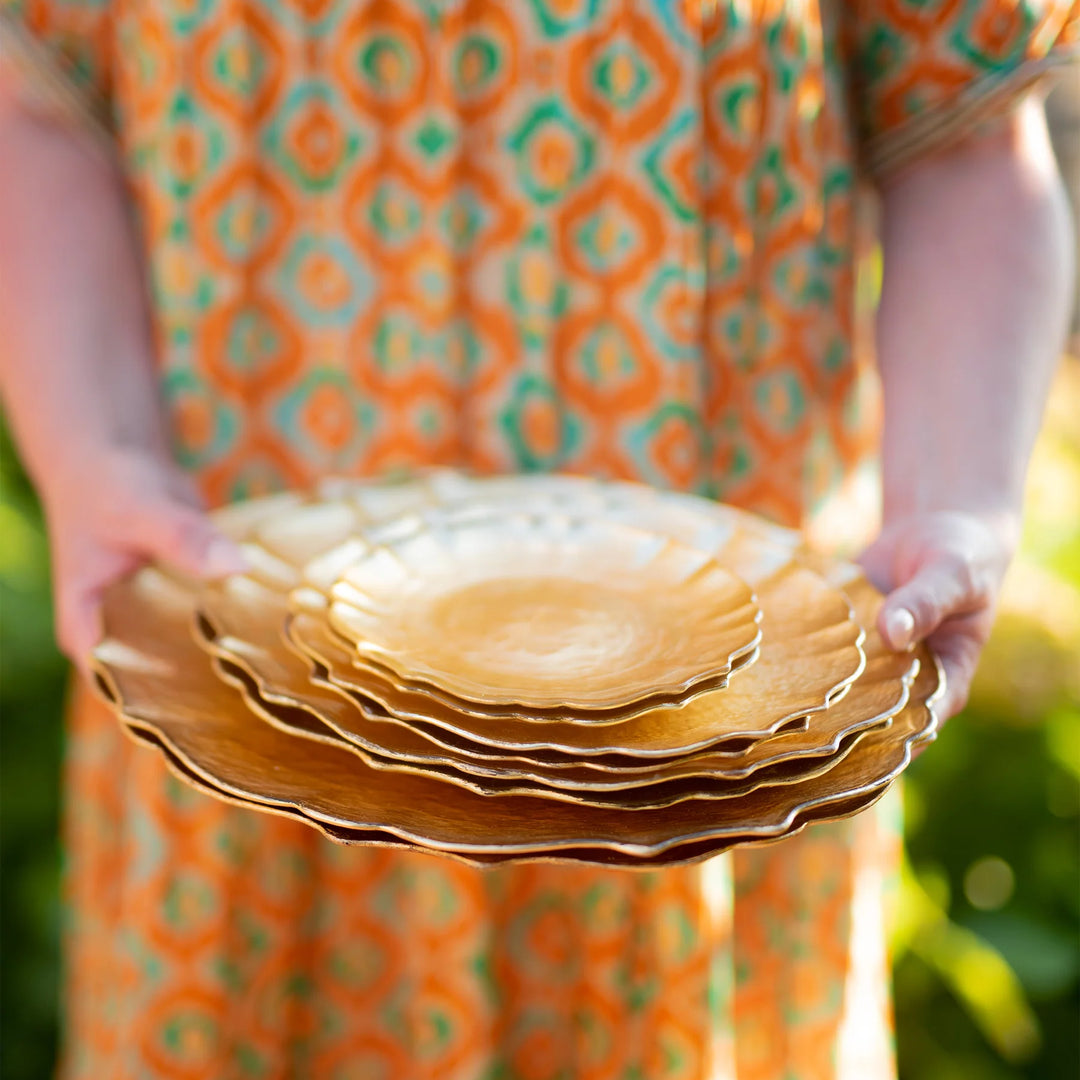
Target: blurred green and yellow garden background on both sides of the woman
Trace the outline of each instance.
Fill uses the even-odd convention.
[[[1050,114],[1076,205],[1080,73]],[[971,703],[905,782],[902,1080],[1080,1076],[1080,322],[1068,352]],[[0,421],[0,1080],[55,1058],[66,677],[40,509]]]

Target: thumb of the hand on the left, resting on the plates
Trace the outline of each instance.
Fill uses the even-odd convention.
[[[135,510],[127,530],[140,554],[197,578],[222,578],[248,568],[240,546],[203,511],[184,502],[154,499]]]

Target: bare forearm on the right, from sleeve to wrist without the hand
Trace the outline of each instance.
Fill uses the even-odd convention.
[[[1074,280],[1041,108],[897,177],[883,215],[886,523],[1013,516]]]

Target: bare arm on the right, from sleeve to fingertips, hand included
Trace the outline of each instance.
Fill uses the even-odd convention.
[[[1065,336],[1068,208],[1041,103],[883,186],[885,517],[864,566],[880,626],[929,637],[962,707],[1020,534]]]

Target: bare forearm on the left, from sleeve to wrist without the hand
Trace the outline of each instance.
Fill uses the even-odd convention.
[[[103,450],[166,453],[148,305],[104,156],[0,87],[0,393],[48,499]]]

